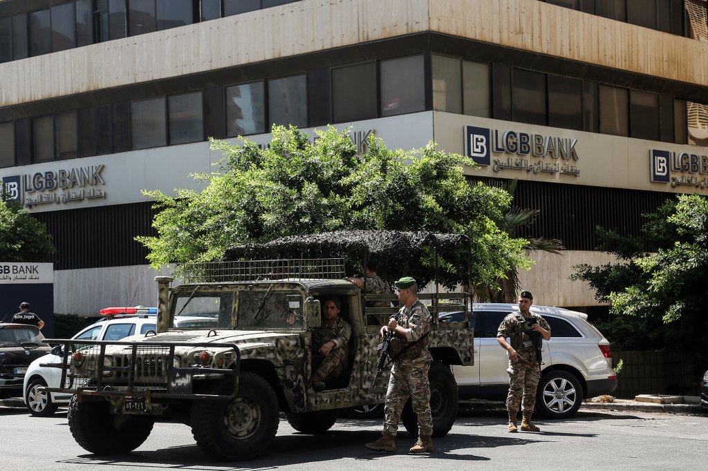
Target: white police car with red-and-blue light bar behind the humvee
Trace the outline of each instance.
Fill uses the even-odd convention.
[[[86,340],[121,340],[131,335],[145,335],[150,330],[156,330],[156,308],[105,308],[101,310],[105,318],[89,325],[72,339]],[[43,337],[42,337],[43,338]],[[57,368],[47,368],[42,364],[60,363],[62,350],[60,347],[51,349],[45,347],[43,356],[32,361],[24,375],[24,382],[18,383],[17,395],[22,395],[30,414],[37,417],[48,417],[57,412],[60,404],[68,404],[72,395],[48,393],[40,390],[45,386],[57,388],[62,380],[62,371]],[[36,356],[35,356],[36,358]]]

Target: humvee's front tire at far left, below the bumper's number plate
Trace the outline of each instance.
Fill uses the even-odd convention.
[[[112,415],[110,403],[69,402],[69,430],[81,448],[96,455],[130,453],[147,440],[155,421],[140,415]]]

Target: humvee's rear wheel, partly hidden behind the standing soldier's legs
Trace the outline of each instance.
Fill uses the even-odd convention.
[[[433,438],[447,435],[457,416],[457,381],[450,366],[433,363],[428,371],[430,381],[430,414],[433,416]],[[413,412],[411,400],[401,412],[401,421],[413,438],[418,438],[418,414]]]

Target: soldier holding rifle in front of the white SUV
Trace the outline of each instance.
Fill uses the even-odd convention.
[[[509,394],[506,397],[506,409],[509,413],[510,432],[517,431],[516,414],[519,401],[523,411],[521,429],[540,431],[531,423],[531,414],[536,405],[536,389],[541,379],[536,349],[531,344],[531,332],[539,332],[543,339],[548,340],[551,338],[551,327],[540,315],[530,313],[532,304],[533,295],[530,291],[521,291],[519,313],[511,313],[501,321],[496,337],[499,344],[509,352]]]

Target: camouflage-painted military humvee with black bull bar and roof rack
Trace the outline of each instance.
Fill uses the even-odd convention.
[[[191,426],[198,446],[221,460],[262,453],[275,438],[280,412],[298,431],[324,432],[338,409],[384,402],[389,371],[373,382],[379,330],[398,310],[393,294],[365,295],[344,280],[344,267],[343,259],[251,260],[194,264],[178,286],[156,277],[157,332],[121,342],[50,340],[64,361],[48,365],[61,368],[62,381],[47,390],[74,393],[69,426],[91,453],[135,450],[155,421]],[[352,336],[346,368],[315,392],[310,339],[327,296],[341,300]],[[433,315],[433,436],[447,434],[455,421],[457,383],[450,366],[470,365],[474,358],[467,296],[419,295]],[[444,311],[464,312],[464,322],[438,322]],[[410,401],[401,419],[416,436]]]

